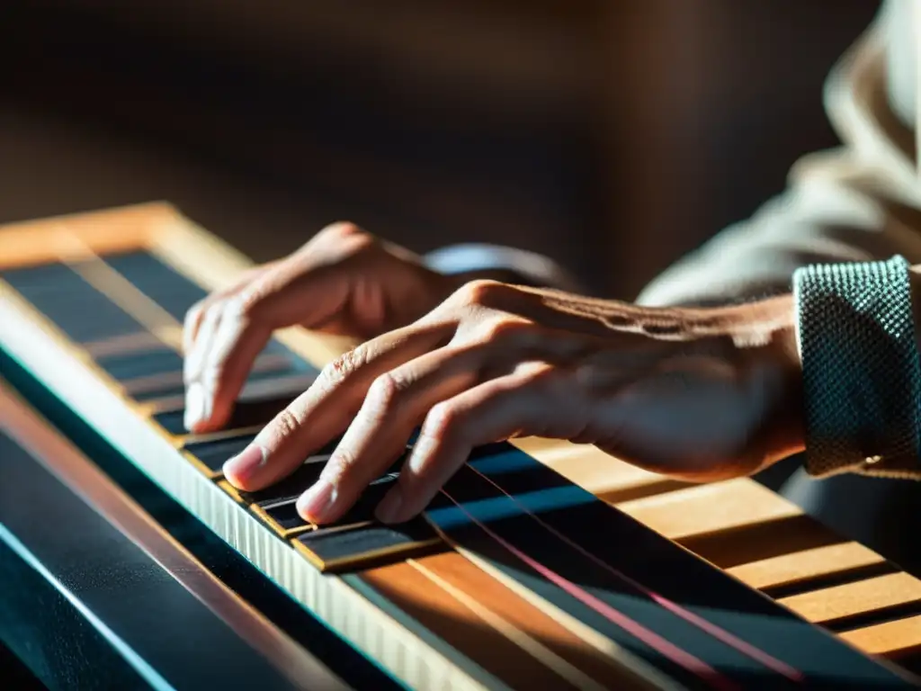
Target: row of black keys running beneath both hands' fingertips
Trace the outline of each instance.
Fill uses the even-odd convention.
[[[151,416],[153,421],[177,441],[182,455],[209,479],[218,479],[223,463],[245,448],[293,398],[253,400],[251,388],[244,390],[243,401],[236,406],[226,430],[212,435],[187,434],[181,407],[182,357],[176,349],[178,339],[160,340],[157,334],[181,330],[186,310],[206,292],[151,252],[135,250],[70,264],[20,267],[4,271],[2,277],[67,338],[77,345],[89,345],[89,359],[117,382],[124,395],[156,410]],[[124,282],[137,294],[122,293],[121,307],[113,298]],[[156,322],[146,314],[157,314]],[[257,357],[247,383],[268,381],[276,391],[299,392],[307,388],[315,374],[316,369],[302,357],[273,341]],[[421,519],[399,530],[382,531],[370,525],[376,500],[393,475],[381,477],[358,506],[336,524],[318,530],[299,520],[297,497],[316,479],[330,452],[332,448],[310,457],[285,482],[254,495],[241,496],[224,482],[218,486],[282,537],[309,531],[311,534],[297,537],[297,548],[323,570],[348,567],[379,554],[419,554],[440,542]]]

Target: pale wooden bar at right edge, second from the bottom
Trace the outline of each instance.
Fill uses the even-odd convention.
[[[886,607],[921,603],[921,580],[907,573],[892,573],[780,598],[777,602],[810,622],[831,624],[845,617]]]

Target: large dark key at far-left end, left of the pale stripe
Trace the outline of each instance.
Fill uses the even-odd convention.
[[[65,264],[4,271],[0,277],[76,343],[146,330]]]

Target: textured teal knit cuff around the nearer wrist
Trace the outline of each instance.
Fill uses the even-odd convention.
[[[908,263],[804,267],[793,292],[807,472],[917,474],[921,365]]]

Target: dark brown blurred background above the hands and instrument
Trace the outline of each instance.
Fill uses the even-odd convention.
[[[258,261],[341,218],[630,299],[834,146],[877,0],[0,0],[0,221],[166,199]]]

